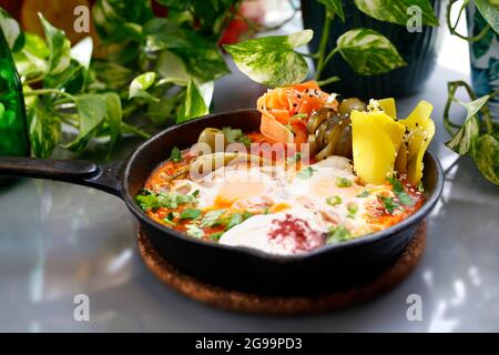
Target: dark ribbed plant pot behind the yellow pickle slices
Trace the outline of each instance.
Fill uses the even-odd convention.
[[[440,13],[440,0],[432,1],[436,16]],[[326,85],[327,91],[349,97],[401,98],[410,95],[424,87],[435,68],[436,44],[439,28],[424,26],[421,32],[409,32],[405,26],[378,21],[360,12],[353,1],[343,1],[345,22],[335,17],[330,23],[328,51],[336,47],[336,40],[355,28],[369,28],[383,33],[397,48],[407,62],[406,67],[378,75],[357,74],[340,55],[335,55],[323,71],[322,78],[337,75],[342,80]],[[325,7],[318,1],[302,0],[304,28],[314,30],[308,48],[317,52],[323,32]]]

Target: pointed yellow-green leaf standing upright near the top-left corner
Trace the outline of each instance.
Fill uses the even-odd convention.
[[[71,42],[65,37],[64,31],[54,28],[45,18],[39,13],[40,21],[49,44],[49,73],[59,74],[63,72],[71,62]]]

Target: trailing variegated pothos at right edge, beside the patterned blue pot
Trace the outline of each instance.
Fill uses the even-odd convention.
[[[447,7],[447,26],[450,33],[469,42],[481,41],[489,38],[490,41],[499,33],[499,1],[475,0],[475,6],[486,20],[487,24],[479,33],[467,37],[456,31],[458,22],[470,1],[465,0],[458,12],[455,23],[450,19],[450,10],[457,0],[450,0]],[[499,90],[492,91],[480,98],[471,87],[464,81],[447,83],[448,98],[444,110],[444,126],[451,135],[446,145],[459,155],[470,155],[481,174],[491,183],[499,185],[499,123],[492,120],[489,102],[499,94]],[[470,101],[464,102],[456,98],[456,92],[465,89]],[[458,103],[467,111],[466,120],[456,123],[450,118],[452,103]]]

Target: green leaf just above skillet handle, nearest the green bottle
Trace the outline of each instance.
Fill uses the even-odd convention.
[[[40,103],[28,110],[31,151],[37,158],[50,158],[61,138],[61,119]]]

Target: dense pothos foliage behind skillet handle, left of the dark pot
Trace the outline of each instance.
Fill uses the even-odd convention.
[[[44,38],[24,33],[0,9],[23,82],[33,155],[48,158],[57,146],[81,152],[94,139],[111,151],[123,134],[147,138],[154,126],[208,113],[213,82],[230,72],[217,43],[242,1],[156,1],[167,18],[155,17],[150,0],[95,2],[101,59],[92,57],[91,39],[72,48],[41,13]],[[71,139],[62,126],[73,128]]]

